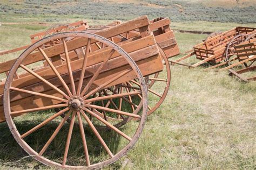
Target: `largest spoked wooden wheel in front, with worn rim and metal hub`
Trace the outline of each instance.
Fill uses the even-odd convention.
[[[83,40],[85,44],[87,44],[84,58],[80,64],[74,65],[70,62],[69,54],[72,44],[65,41],[68,37],[80,38],[80,40]],[[60,74],[59,69],[52,65],[49,56],[41,48],[45,43],[55,39],[62,39],[62,49],[66,57],[65,74]],[[95,41],[103,42],[105,45],[109,46],[109,53],[104,53],[106,56],[104,56],[103,61],[99,62],[97,66],[93,65],[90,67],[87,66],[87,61],[89,62],[88,58],[90,56],[89,47],[91,43]],[[39,53],[37,50],[39,50],[41,56],[49,62],[50,67],[48,71],[51,70],[51,72],[48,75],[31,70],[29,65],[23,65],[24,62],[28,62],[27,59],[31,56],[31,53]],[[120,57],[118,61],[123,61],[127,64],[125,67],[120,67],[123,69],[121,69],[121,72],[119,70],[119,73],[117,71],[120,68],[114,68],[109,71],[105,70],[105,66],[108,66],[107,68],[111,66],[111,62],[113,61],[111,57],[113,54],[119,54]],[[91,74],[93,68],[95,72]],[[31,77],[34,78],[30,79],[33,80],[31,86],[37,82],[37,87],[38,84],[41,83],[44,84],[43,89],[49,90],[44,93],[44,91],[40,91],[42,88],[28,88],[31,81],[25,82],[26,87],[23,87],[24,84],[22,86],[22,83],[18,83],[14,80],[14,75],[19,72],[20,69],[26,70],[26,72],[31,74]],[[104,72],[102,72],[103,69]],[[50,75],[52,75],[53,78]],[[109,76],[106,77],[106,75]],[[89,78],[85,78],[86,76]],[[104,88],[110,87],[111,83],[122,81],[121,78],[127,76],[139,80],[140,91],[137,91],[137,94],[142,96],[142,111],[138,112],[138,114],[134,114],[133,111],[110,109],[93,104],[93,102],[103,99],[99,96],[96,97],[94,94],[99,93],[99,91]],[[105,80],[105,77],[108,79]],[[109,79],[109,77],[111,78]],[[53,80],[57,80],[58,82]],[[37,91],[35,89],[37,89]],[[57,168],[101,168],[125,155],[138,140],[146,119],[146,92],[146,85],[138,66],[122,48],[103,37],[91,33],[59,33],[44,38],[30,46],[19,56],[14,66],[12,66],[5,83],[4,112],[6,122],[18,144],[21,145],[28,154],[43,164]],[[114,99],[120,96],[127,97],[127,95],[131,94],[136,93],[109,95],[105,98]],[[22,96],[23,98],[21,98]],[[24,99],[24,97],[26,98]],[[24,102],[26,99],[29,99],[28,103],[30,104]],[[62,109],[56,113],[54,112],[54,108]],[[108,121],[98,116],[99,110],[106,111],[108,114],[122,115],[125,118],[139,118],[140,121],[133,122],[132,127],[128,130],[126,130],[127,128],[120,130],[113,126],[115,122]],[[41,114],[40,112],[42,111],[43,113]],[[41,114],[40,117],[42,117],[42,121],[28,130],[24,128],[24,126],[31,114],[23,114],[30,112],[39,112],[38,114]],[[65,114],[65,118],[58,119],[63,113]],[[12,119],[12,116],[18,117]],[[71,118],[70,124],[66,123],[68,118]],[[96,119],[98,122],[95,121]],[[29,118],[29,120],[31,120],[31,118]],[[49,124],[49,122],[57,125]],[[76,129],[76,126],[74,126],[75,122],[79,124],[79,129]],[[83,125],[85,123],[87,123],[87,126]],[[107,125],[116,136],[111,137],[108,131],[98,131],[95,128],[95,124],[97,123]],[[20,126],[20,124],[22,124],[22,126]],[[84,131],[84,129],[86,129],[86,131]],[[66,136],[67,139],[65,140],[63,137],[66,138]],[[78,139],[81,139],[81,137],[82,140],[79,141]],[[95,140],[92,140],[93,138],[95,138]],[[118,140],[120,140],[120,143],[118,143]],[[73,145],[71,145],[71,143]],[[118,144],[120,146],[118,146]],[[76,150],[79,152],[75,152]],[[69,152],[72,152],[70,154],[72,157],[83,152],[84,156],[82,157],[82,155],[79,154],[78,158],[80,159],[72,159],[71,161],[69,160],[70,157],[68,158]],[[93,156],[90,157],[93,152]]]

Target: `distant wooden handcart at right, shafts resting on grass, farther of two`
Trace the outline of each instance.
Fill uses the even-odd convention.
[[[216,32],[205,39],[200,44],[193,47],[191,53],[183,56],[182,58],[173,61],[173,63],[180,63],[181,61],[196,55],[196,58],[201,60],[193,65],[184,64],[188,67],[197,67],[205,63],[210,63],[210,66],[206,69],[212,69],[217,67],[223,67],[237,58],[232,58],[235,54],[233,47],[239,45],[246,40],[251,34],[255,33],[256,28],[253,27],[235,27],[234,29],[226,32]],[[182,65],[182,63],[181,63]]]

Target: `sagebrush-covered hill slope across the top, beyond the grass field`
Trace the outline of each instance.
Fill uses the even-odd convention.
[[[237,2],[238,1],[238,2]],[[256,5],[247,1],[25,1],[1,2],[0,14],[22,14],[42,16],[79,15],[88,19],[127,20],[142,15],[150,18],[170,17],[174,22],[207,21],[256,23]],[[60,3],[62,2],[62,3]],[[64,3],[63,3],[64,2]],[[225,5],[218,5],[225,4]],[[230,4],[230,5],[228,5]],[[232,6],[232,8],[230,8]]]

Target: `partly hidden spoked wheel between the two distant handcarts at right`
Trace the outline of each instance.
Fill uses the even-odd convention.
[[[238,60],[238,61],[244,60],[237,56],[237,53],[235,53],[234,47],[241,44],[242,42],[245,42],[247,38],[248,38],[248,34],[239,34],[239,35],[235,36],[227,44],[226,51],[225,51],[225,58],[226,58],[226,61],[228,61],[227,62],[228,65],[232,65],[232,63],[234,63],[234,61],[236,61],[236,60]],[[252,64],[250,62],[244,62],[243,64],[245,67],[250,67]]]

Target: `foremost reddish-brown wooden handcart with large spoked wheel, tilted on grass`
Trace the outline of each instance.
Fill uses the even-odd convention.
[[[137,36],[120,39],[129,32]],[[19,58],[0,63],[0,73],[8,73],[0,82],[0,121],[45,165],[102,168],[125,155],[142,133],[149,81],[167,82],[151,77],[163,70],[164,55],[145,16],[95,33],[60,32],[37,40]],[[42,118],[33,122],[31,114]],[[132,129],[119,128],[134,118]],[[83,151],[82,161],[69,159],[76,149]]]

